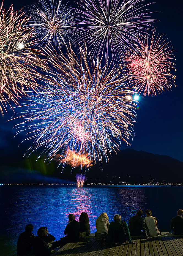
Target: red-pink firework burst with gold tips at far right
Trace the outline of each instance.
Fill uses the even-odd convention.
[[[124,58],[129,72],[129,82],[143,93],[143,96],[156,95],[170,89],[176,76],[173,49],[162,36],[155,37],[154,33],[149,43],[148,36],[139,39],[136,50],[131,49]]]

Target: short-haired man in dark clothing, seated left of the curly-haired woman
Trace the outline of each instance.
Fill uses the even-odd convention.
[[[67,236],[64,236],[61,238],[60,247],[64,246],[67,243],[75,242],[80,235],[80,223],[75,220],[74,214],[72,213],[69,214],[68,218],[69,218],[69,224],[67,224],[64,230],[64,235],[67,235]]]

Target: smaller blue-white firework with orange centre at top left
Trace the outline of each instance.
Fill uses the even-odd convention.
[[[75,29],[76,20],[71,11],[66,6],[61,5],[61,0],[54,5],[54,1],[39,1],[41,7],[34,5],[31,11],[31,25],[36,28],[37,36],[40,37],[39,44],[53,45],[61,47],[66,44],[66,39],[70,37]]]

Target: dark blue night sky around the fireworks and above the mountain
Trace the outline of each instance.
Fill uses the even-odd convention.
[[[144,1],[149,3],[148,1]],[[145,97],[139,100],[140,109],[136,110],[137,118],[134,126],[135,136],[130,139],[131,147],[135,150],[143,150],[153,154],[161,154],[183,161],[183,136],[182,136],[182,8],[179,0],[164,1],[149,6],[154,12],[152,18],[157,19],[156,31],[165,34],[171,45],[173,45],[176,56],[176,85],[172,91],[165,91],[156,97]],[[9,8],[14,4],[14,9],[30,6],[34,1],[4,1],[4,7]],[[70,1],[72,5],[72,1]],[[18,111],[15,109],[15,111]],[[0,117],[0,150],[1,164],[6,164],[15,159],[23,159],[23,154],[30,146],[23,143],[18,145],[25,138],[25,134],[13,137],[16,133],[13,126],[16,121],[8,121],[13,116],[13,111],[7,108],[7,114]],[[126,145],[121,149],[127,148]],[[129,148],[129,146],[128,146]]]

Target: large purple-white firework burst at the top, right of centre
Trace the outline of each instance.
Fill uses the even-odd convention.
[[[144,9],[147,5],[142,5],[139,0],[99,0],[100,6],[95,0],[80,2],[77,12],[82,27],[77,29],[78,41],[86,40],[92,54],[100,56],[104,52],[106,59],[112,54],[113,60],[118,60],[126,47],[133,47],[141,29],[147,29],[153,21]]]

